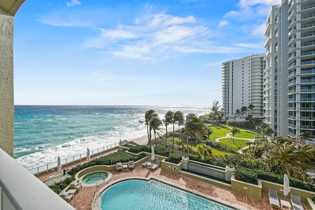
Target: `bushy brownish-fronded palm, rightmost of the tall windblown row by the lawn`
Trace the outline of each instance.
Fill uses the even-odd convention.
[[[202,137],[205,125],[195,114],[188,114],[185,121],[185,132],[187,141],[187,153],[189,154],[189,136]]]

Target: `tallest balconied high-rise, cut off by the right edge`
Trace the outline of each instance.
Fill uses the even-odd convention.
[[[283,0],[266,24],[264,121],[276,136],[315,137],[315,2]]]

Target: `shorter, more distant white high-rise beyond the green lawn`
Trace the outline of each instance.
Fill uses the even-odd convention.
[[[223,111],[230,119],[245,120],[249,114],[263,117],[264,57],[265,54],[252,55],[222,63]],[[246,115],[236,113],[244,106],[248,108]]]

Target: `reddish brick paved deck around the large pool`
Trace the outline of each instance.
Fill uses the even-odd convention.
[[[108,153],[112,153],[117,150],[109,151]],[[106,153],[106,154],[108,154]],[[104,154],[101,154],[104,155]],[[96,158],[97,156],[92,157],[91,159]],[[82,164],[86,162],[82,161],[77,164]],[[64,167],[63,169],[70,169],[75,165],[70,165]],[[227,204],[234,208],[238,208],[240,210],[273,210],[278,209],[275,207],[271,207],[269,204],[269,196],[268,193],[262,193],[261,199],[254,198],[252,196],[243,195],[232,190],[228,190],[210,183],[206,183],[199,180],[194,180],[192,178],[188,178],[185,176],[173,174],[164,170],[161,170],[159,166],[157,170],[153,171],[150,168],[145,168],[140,166],[135,167],[133,170],[125,170],[111,171],[112,178],[107,182],[101,183],[98,186],[83,186],[82,189],[73,197],[73,199],[69,202],[76,210],[88,210],[92,209],[91,202],[93,200],[93,196],[95,191],[101,191],[102,188],[106,187],[106,185],[110,185],[117,180],[124,180],[130,178],[144,178],[144,179],[156,179],[161,180],[166,183],[171,183],[176,187],[181,187],[183,189],[195,192],[196,194],[200,193],[202,196],[210,198],[214,201],[221,202],[223,204]],[[45,175],[41,175],[38,177],[39,180],[47,180],[49,176],[57,175],[57,172],[50,172]],[[284,197],[279,197],[281,200],[289,201],[289,199],[284,199]],[[308,206],[303,203],[303,207],[305,210],[308,209]]]

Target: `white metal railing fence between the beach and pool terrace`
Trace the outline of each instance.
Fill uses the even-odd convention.
[[[91,150],[90,151],[90,156],[98,155],[98,154],[101,154],[103,152],[106,152],[106,151],[109,151],[109,150],[113,150],[113,149],[117,148],[118,146],[124,145],[124,144],[126,144],[126,142],[122,142],[121,141],[121,142],[117,142],[117,143],[114,143],[114,144],[111,144],[111,145],[107,145],[107,146],[98,148],[96,150]],[[61,165],[62,166],[66,166],[68,164],[73,164],[76,161],[84,160],[86,158],[87,158],[87,152],[84,152],[84,153],[81,153],[81,154],[74,155],[72,157],[67,157],[65,159],[61,159]],[[46,165],[30,169],[29,172],[31,172],[33,175],[37,174],[37,176],[38,176],[39,173],[42,173],[42,172],[47,172],[48,173],[50,170],[57,168],[57,166],[58,165],[57,165],[57,161],[56,161],[56,162],[48,163]]]

